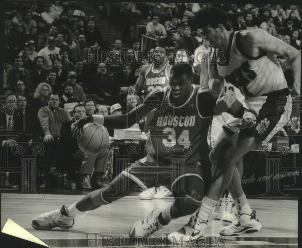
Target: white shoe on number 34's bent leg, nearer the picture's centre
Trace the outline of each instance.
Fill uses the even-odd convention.
[[[162,209],[156,208],[151,211],[148,216],[140,221],[136,221],[129,231],[129,236],[134,238],[137,237],[148,237],[157,230],[162,229],[162,225],[158,221],[158,216]]]

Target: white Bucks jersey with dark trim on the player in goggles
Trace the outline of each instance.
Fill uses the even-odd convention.
[[[265,53],[251,57],[245,54],[240,47],[239,32],[231,34],[225,56],[221,56],[221,51],[216,50],[219,75],[239,88],[246,98],[287,88],[283,71],[275,55]]]

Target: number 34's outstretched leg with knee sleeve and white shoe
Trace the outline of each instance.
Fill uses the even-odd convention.
[[[54,227],[70,229],[74,225],[76,215],[94,210],[128,195],[130,192],[124,190],[125,184],[130,185],[132,190],[139,189],[130,178],[119,174],[107,187],[90,192],[71,206],[63,205],[61,209],[39,215],[32,220],[31,225],[38,230],[50,230]]]

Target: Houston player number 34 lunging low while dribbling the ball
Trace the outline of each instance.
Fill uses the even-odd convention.
[[[95,190],[71,206],[63,207],[34,218],[32,226],[39,230],[53,227],[69,229],[74,217],[84,211],[110,204],[140,188],[169,185],[175,201],[165,209],[154,209],[142,221],[130,229],[130,236],[147,237],[167,225],[170,220],[193,214],[201,205],[204,183],[198,162],[207,156],[207,132],[211,116],[228,111],[244,118],[246,127],[254,122],[245,118],[250,112],[236,100],[234,93],[225,95],[193,85],[192,69],[188,63],[172,66],[168,87],[151,92],[143,103],[124,115],[92,115],[77,122],[78,129],[89,122],[98,122],[105,127],[124,129],[145,118],[148,109],[154,112],[147,116],[155,153],[148,153],[122,171],[107,187]],[[151,106],[150,106],[151,105]],[[182,159],[179,157],[182,156]],[[125,185],[129,189],[126,190]]]

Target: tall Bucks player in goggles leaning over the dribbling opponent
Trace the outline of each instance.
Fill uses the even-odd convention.
[[[236,146],[230,147],[223,159],[217,161],[212,185],[194,221],[170,234],[170,239],[183,236],[184,241],[204,236],[209,214],[226,187],[234,198],[239,215],[236,221],[220,230],[220,235],[235,236],[262,229],[255,211],[251,210],[246,200],[235,165],[259,143],[270,140],[290,117],[290,91],[275,55],[289,59],[294,76],[291,94],[300,95],[301,54],[294,47],[262,29],[232,32],[226,13],[217,8],[199,11],[195,20],[211,46],[218,49],[217,63],[214,64],[217,68],[210,71],[240,89],[246,98],[246,105],[255,112],[257,121],[252,128],[240,130]]]

